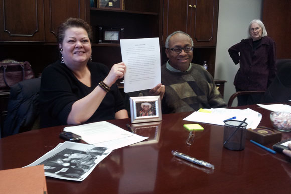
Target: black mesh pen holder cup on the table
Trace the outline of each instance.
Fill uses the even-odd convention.
[[[224,123],[223,146],[230,150],[243,150],[247,123],[229,120]]]

